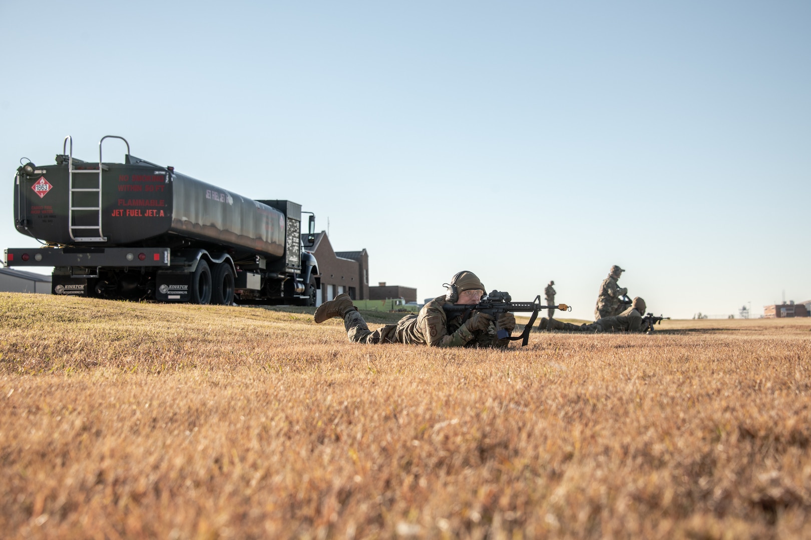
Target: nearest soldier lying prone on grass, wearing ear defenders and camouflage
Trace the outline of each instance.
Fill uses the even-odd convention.
[[[341,317],[351,342],[414,343],[429,347],[507,347],[509,338],[497,338],[496,325],[493,324],[495,320],[491,315],[474,311],[469,318],[458,315],[448,320],[442,308],[443,304],[478,304],[485,289],[476,274],[466,270],[459,272],[453,276],[451,283],[445,283],[445,287],[448,294],[431,300],[418,314],[410,313],[396,325],[385,325],[374,332],[369,330],[346,294],[321,304],[315,310],[315,322]],[[512,333],[515,317],[512,313],[502,313],[498,326]]]

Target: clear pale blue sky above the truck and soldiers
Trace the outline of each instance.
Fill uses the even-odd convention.
[[[662,3],[2,0],[0,248],[21,157],[118,134],[420,298],[554,279],[591,318],[618,264],[673,317],[809,300],[811,2]]]

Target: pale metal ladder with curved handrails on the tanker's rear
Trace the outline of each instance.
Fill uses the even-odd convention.
[[[105,164],[101,163],[101,143],[104,142],[105,138],[120,138],[127,144],[127,155],[130,153],[130,143],[127,142],[127,139],[123,137],[118,137],[117,135],[105,135],[99,141],[99,164],[98,168],[88,168],[89,164],[85,164],[82,162],[83,167],[77,168],[73,164],[73,138],[68,135],[64,142],[62,142],[62,154],[65,154],[67,150],[67,143],[71,142],[71,153],[68,155],[67,159],[67,170],[68,170],[68,188],[70,191],[68,192],[68,232],[71,235],[71,240],[75,242],[106,242],[107,237],[104,236],[104,232],[101,231],[101,174],[104,171],[109,170]],[[87,184],[83,183],[84,187],[77,188],[74,186],[74,179],[73,175],[75,174],[97,174],[97,183],[95,184]],[[92,202],[88,201],[85,198],[84,202],[87,204],[88,202],[93,206],[74,206],[74,194],[75,193],[96,193],[96,197],[92,198]],[[88,212],[92,211],[93,213],[93,221],[85,222],[87,224],[84,225],[76,225],[76,211],[80,212]],[[84,218],[87,218],[87,214],[83,215]]]

